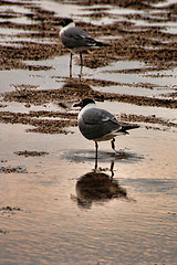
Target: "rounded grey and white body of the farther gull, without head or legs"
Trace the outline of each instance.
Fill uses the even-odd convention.
[[[61,34],[61,40],[67,49],[96,45],[96,41],[94,39],[92,39],[85,31],[75,26],[64,31]]]

